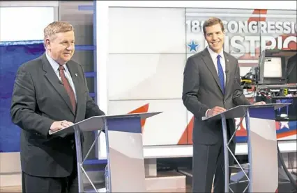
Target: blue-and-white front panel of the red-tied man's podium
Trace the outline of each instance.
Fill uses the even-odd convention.
[[[111,192],[146,192],[140,117],[107,119],[105,135]]]

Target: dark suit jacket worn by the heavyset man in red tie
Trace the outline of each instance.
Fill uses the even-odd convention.
[[[76,123],[104,115],[89,97],[82,66],[73,60],[66,65],[75,85],[77,112],[73,112],[68,94],[45,54],[24,63],[17,71],[10,115],[13,123],[22,128],[22,171],[33,176],[65,177],[73,171],[74,135],[50,136],[54,121]]]

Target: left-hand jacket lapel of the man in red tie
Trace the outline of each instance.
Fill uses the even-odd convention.
[[[70,103],[70,98],[64,86],[61,83],[59,83],[59,78],[58,76],[56,76],[54,69],[52,69],[52,66],[50,65],[50,62],[47,60],[45,53],[43,54],[43,56],[41,56],[41,60],[43,61],[43,70],[45,71],[45,77],[48,81],[50,81],[56,92],[58,92],[62,99],[65,101],[69,110],[73,113],[73,115],[75,115],[75,112],[73,112],[73,108]]]

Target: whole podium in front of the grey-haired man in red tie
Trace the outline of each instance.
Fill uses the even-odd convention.
[[[83,164],[102,131],[106,136],[109,192],[146,192],[141,122],[159,113],[94,116],[68,128],[50,132],[53,136],[75,133],[79,192],[84,192],[83,173],[91,183],[94,192],[98,192],[86,174]],[[100,132],[83,160],[81,133],[87,131]]]

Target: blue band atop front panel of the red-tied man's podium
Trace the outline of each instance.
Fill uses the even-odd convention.
[[[140,117],[112,118],[107,119],[109,131],[121,131],[128,133],[142,133]]]

